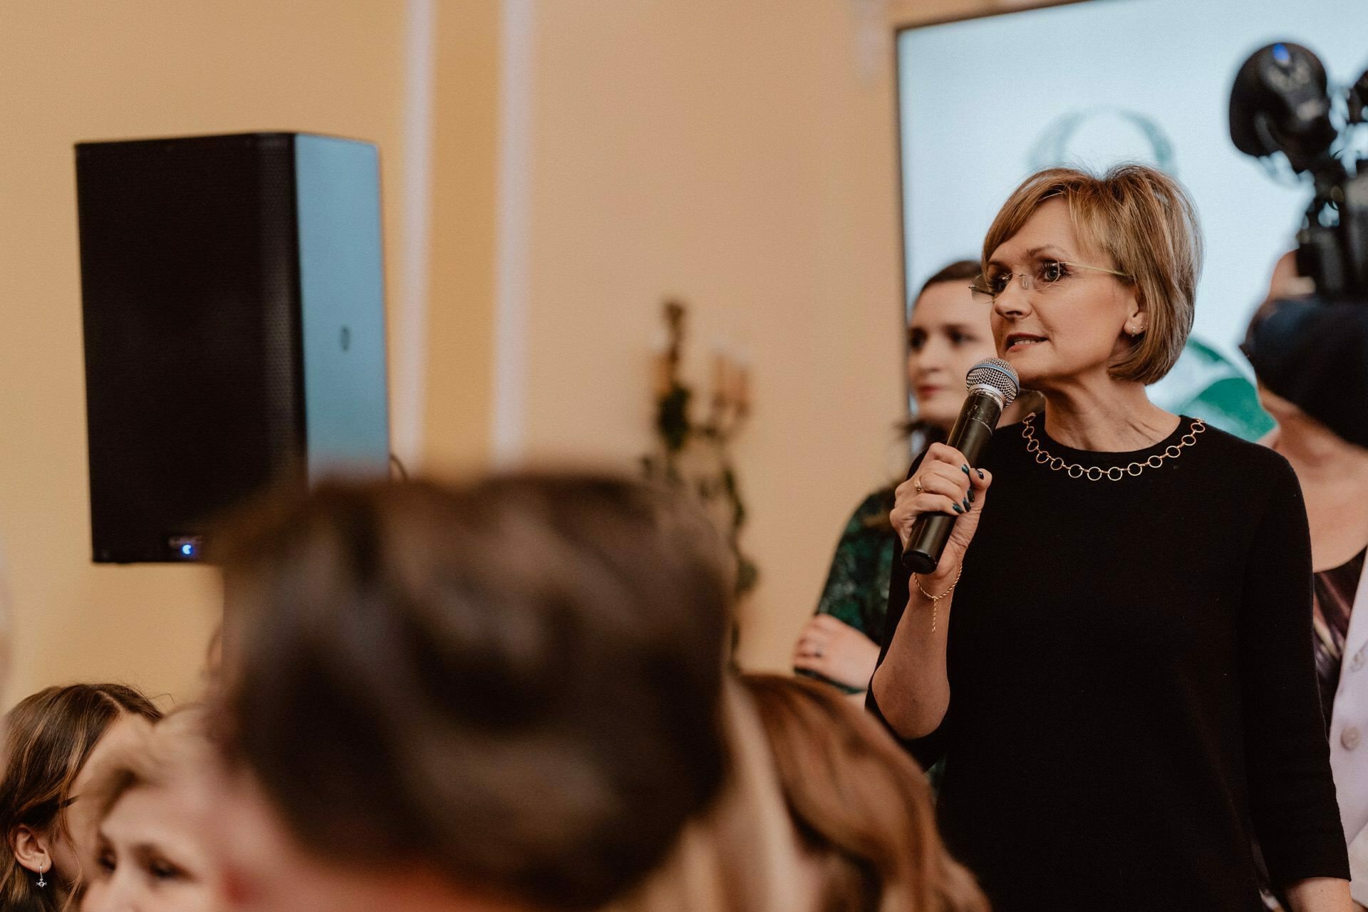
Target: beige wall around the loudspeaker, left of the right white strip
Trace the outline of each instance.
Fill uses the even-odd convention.
[[[434,134],[432,183],[443,216],[432,246],[442,265],[431,289],[469,306],[442,309],[428,339],[442,354],[427,360],[439,436],[424,457],[438,465],[469,461],[486,439],[497,10],[492,0],[439,10],[434,105],[445,129]],[[393,347],[405,291],[395,268],[405,4],[0,0],[0,541],[15,636],[5,693],[12,701],[53,682],[116,678],[189,697],[216,623],[211,572],[89,561],[71,145],[244,130],[378,142]],[[462,432],[453,416],[466,421]]]

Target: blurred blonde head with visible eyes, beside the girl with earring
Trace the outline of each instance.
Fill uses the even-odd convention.
[[[216,912],[218,753],[204,710],[140,722],[90,785],[100,819],[81,912]]]

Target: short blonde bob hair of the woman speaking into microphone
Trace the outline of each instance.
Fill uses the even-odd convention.
[[[1003,204],[984,238],[984,271],[993,253],[1048,200],[1068,204],[1083,256],[1109,257],[1116,280],[1135,286],[1145,331],[1111,365],[1118,380],[1150,384],[1178,361],[1193,328],[1201,273],[1197,211],[1182,185],[1142,164],[1120,164],[1103,176],[1047,168],[1026,178]],[[1105,267],[1093,261],[1089,265]]]

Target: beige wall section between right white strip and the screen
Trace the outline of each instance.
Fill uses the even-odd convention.
[[[752,667],[788,667],[841,524],[896,464],[892,51],[877,29],[862,56],[858,5],[538,5],[528,453],[646,451],[665,295],[692,305],[695,361],[743,345]]]

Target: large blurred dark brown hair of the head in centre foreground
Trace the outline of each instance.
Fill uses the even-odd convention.
[[[330,484],[218,559],[223,734],[321,857],[592,908],[722,782],[729,565],[662,489]]]

